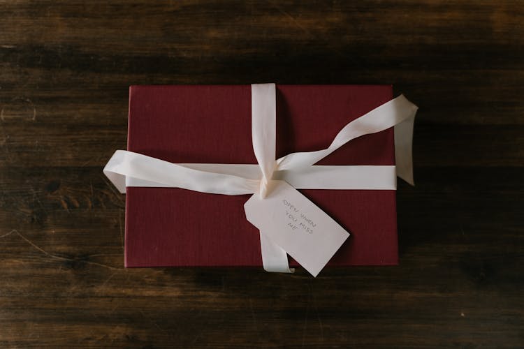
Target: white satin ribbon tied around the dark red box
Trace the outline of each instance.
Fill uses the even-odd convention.
[[[349,122],[326,149],[288,154],[275,161],[275,89],[275,84],[252,84],[252,140],[259,165],[175,164],[117,150],[103,172],[120,193],[125,193],[126,186],[145,186],[224,195],[259,193],[264,198],[271,179],[282,179],[297,189],[394,190],[396,176],[414,184],[412,138],[417,107],[407,98],[400,95]],[[393,126],[396,166],[314,165],[350,140]],[[260,234],[260,242],[266,271],[293,272],[286,251],[264,234]]]

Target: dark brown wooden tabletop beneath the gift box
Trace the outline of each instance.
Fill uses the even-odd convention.
[[[524,346],[522,1],[0,1],[0,347]],[[130,84],[394,84],[400,266],[124,269]]]

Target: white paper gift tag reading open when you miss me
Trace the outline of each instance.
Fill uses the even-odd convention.
[[[286,181],[271,181],[269,195],[252,195],[246,217],[261,234],[284,248],[316,276],[349,237],[349,233]]]

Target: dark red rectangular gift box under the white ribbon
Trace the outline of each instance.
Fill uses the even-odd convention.
[[[391,98],[389,85],[277,85],[277,158],[326,148],[349,121]],[[256,164],[250,85],[132,86],[127,148],[172,163]],[[352,140],[318,164],[394,165],[393,128]],[[398,264],[395,191],[300,192],[351,232],[328,265]],[[126,267],[261,267],[248,199],[128,187]]]

